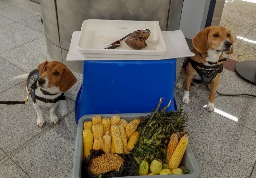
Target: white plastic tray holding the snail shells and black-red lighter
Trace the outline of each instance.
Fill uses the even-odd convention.
[[[147,28],[151,34],[146,40],[146,48],[134,50],[125,43],[126,39],[124,39],[118,48],[104,49],[133,31]],[[84,57],[137,59],[159,59],[167,50],[158,21],[99,19],[88,19],[83,22],[77,49]]]

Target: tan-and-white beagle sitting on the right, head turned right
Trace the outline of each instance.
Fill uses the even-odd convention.
[[[195,86],[198,83],[208,84],[210,95],[206,109],[214,111],[215,91],[219,84],[220,73],[223,71],[221,59],[223,52],[233,53],[234,39],[230,30],[226,27],[211,26],[200,31],[193,39],[193,50],[195,57],[186,58],[180,70],[180,81],[176,84],[181,88],[185,82],[182,102],[189,103],[189,86],[192,82]]]

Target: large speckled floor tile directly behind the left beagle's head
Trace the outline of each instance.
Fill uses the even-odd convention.
[[[12,50],[8,50],[0,54],[0,56],[15,66],[19,66],[27,73],[36,69],[37,66],[45,60],[52,60],[46,49],[45,37],[41,37]]]

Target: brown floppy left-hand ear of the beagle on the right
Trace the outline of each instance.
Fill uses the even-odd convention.
[[[194,48],[200,53],[206,53],[209,45],[208,45],[208,33],[210,29],[206,28],[200,31],[193,39],[192,43]]]

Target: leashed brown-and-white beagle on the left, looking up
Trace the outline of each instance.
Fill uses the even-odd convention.
[[[66,99],[64,92],[68,91],[77,81],[67,66],[57,61],[44,61],[38,65],[38,69],[13,79],[26,79],[26,91],[29,93],[31,90],[30,95],[37,113],[36,125],[38,127],[45,125],[41,106],[51,108],[50,119],[52,123],[58,124],[60,122],[54,110],[60,100]]]

